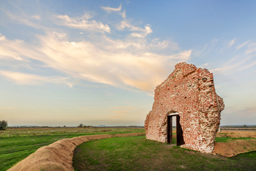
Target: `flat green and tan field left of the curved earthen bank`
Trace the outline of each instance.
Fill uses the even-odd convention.
[[[129,132],[145,132],[145,130],[144,128],[8,128],[0,131],[0,171],[11,168],[38,148],[60,139]]]

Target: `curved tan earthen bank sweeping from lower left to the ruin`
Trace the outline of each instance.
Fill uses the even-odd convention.
[[[132,137],[145,135],[145,132],[133,132],[125,134],[95,134],[81,137],[73,137],[72,139],[61,139],[50,145],[39,148],[33,154],[30,154],[26,159],[19,161],[8,171],[51,171],[65,170],[74,171],[73,152],[77,145],[86,141],[96,139],[109,139],[113,137]]]

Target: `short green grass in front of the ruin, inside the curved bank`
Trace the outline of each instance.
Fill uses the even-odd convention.
[[[147,140],[144,136],[117,137],[78,145],[75,148],[73,167],[77,171],[256,170],[256,152],[226,158]]]

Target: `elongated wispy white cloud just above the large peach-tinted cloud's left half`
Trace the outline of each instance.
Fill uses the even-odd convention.
[[[89,21],[91,18],[89,14],[84,14],[82,17],[68,17],[68,15],[55,15],[55,23],[61,26],[67,26],[69,28],[75,28],[79,30],[89,31],[103,31],[111,32],[107,24],[97,22],[95,20]]]

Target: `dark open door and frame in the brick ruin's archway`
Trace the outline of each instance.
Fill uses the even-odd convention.
[[[172,143],[172,117],[176,117],[176,145],[183,145],[185,142],[179,114],[170,114],[167,116],[167,143]]]

